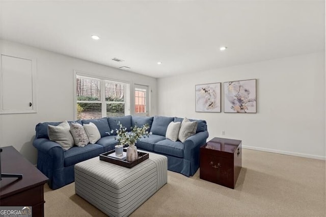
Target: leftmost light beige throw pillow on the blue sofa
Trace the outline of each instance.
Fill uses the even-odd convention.
[[[50,141],[58,143],[64,150],[68,150],[74,145],[70,133],[70,126],[67,121],[62,122],[58,126],[48,125],[47,134],[49,135]]]

